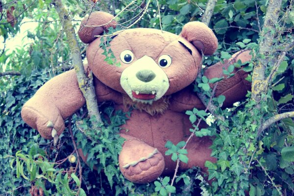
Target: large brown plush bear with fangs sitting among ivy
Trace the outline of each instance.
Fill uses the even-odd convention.
[[[213,54],[218,41],[212,30],[200,22],[184,25],[180,35],[150,28],[127,29],[110,42],[122,65],[116,67],[104,61],[100,39],[95,37],[110,26],[115,27],[112,19],[104,12],[92,13],[82,22],[79,37],[89,43],[87,60],[94,74],[98,102],[112,100],[116,109],[124,111],[135,108],[121,131],[126,141],[119,166],[128,180],[146,183],[162,173],[174,172],[175,162],[164,155],[165,144],[185,141],[191,134],[192,124],[186,110],[205,109],[193,92],[192,83],[201,69],[201,53]],[[249,52],[239,52],[229,61],[209,67],[204,74],[208,78],[222,77],[222,70],[239,59],[250,60]],[[235,73],[219,82],[216,89],[216,96],[226,97],[224,107],[244,98],[250,90],[245,72]],[[23,106],[22,118],[42,137],[52,139],[52,128],[60,135],[65,128],[64,120],[84,104],[75,71],[71,70],[42,86]],[[205,161],[215,161],[210,156],[211,144],[210,137],[194,136],[187,146],[188,164],[181,163],[180,169],[198,166],[205,171]]]

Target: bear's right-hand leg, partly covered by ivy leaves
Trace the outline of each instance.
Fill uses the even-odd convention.
[[[194,136],[187,145],[188,151],[188,164],[181,162],[180,169],[187,170],[193,167],[199,167],[203,172],[207,172],[207,168],[204,166],[206,161],[216,162],[216,158],[211,157],[212,140],[210,137],[198,138]]]

